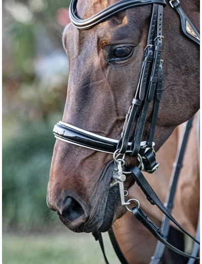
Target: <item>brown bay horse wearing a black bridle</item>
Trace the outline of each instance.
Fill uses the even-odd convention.
[[[116,4],[115,0],[79,0],[76,16],[87,19],[113,4]],[[90,131],[89,135],[97,134],[100,139],[119,140],[141,74],[152,6],[146,4],[122,10],[89,30],[79,30],[73,24],[66,26],[63,46],[69,58],[70,71],[63,122],[70,124],[70,128],[79,127],[80,133]],[[199,30],[199,1],[192,1],[190,5],[185,0],[181,6]],[[154,135],[156,151],[176,126],[187,121],[199,109],[198,46],[184,36],[179,17],[169,6],[164,8],[163,25],[164,92]],[[154,78],[151,81],[155,81]],[[153,122],[152,114],[151,105],[142,134],[144,141]],[[137,115],[141,113],[137,111]],[[132,134],[136,124],[135,119]],[[138,163],[137,155],[127,155],[125,170]],[[113,171],[112,154],[57,140],[47,205],[57,211],[61,221],[74,232],[106,232],[113,223],[120,227],[128,212],[121,204],[118,185],[111,187]],[[131,190],[133,185],[134,179],[128,174],[124,190]],[[129,195],[135,198],[135,193],[133,196],[129,192]],[[192,208],[192,204],[187,203],[188,212]],[[154,218],[159,221],[158,214]],[[135,230],[135,224],[131,228]],[[118,230],[121,228],[114,229],[120,242]],[[121,249],[129,263],[148,263],[148,258],[135,260],[134,254],[127,255],[124,246],[121,245]]]

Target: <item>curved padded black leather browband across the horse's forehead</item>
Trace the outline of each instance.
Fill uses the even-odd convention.
[[[72,24],[78,29],[90,29],[97,24],[103,22],[107,18],[115,15],[119,11],[123,11],[129,8],[148,5],[148,4],[160,4],[166,7],[165,0],[121,0],[115,4],[103,9],[102,11],[96,13],[95,15],[87,18],[80,19],[76,16],[76,5],[78,0],[72,0],[69,8],[69,15]]]

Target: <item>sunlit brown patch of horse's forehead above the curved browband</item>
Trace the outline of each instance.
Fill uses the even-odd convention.
[[[99,11],[107,8],[108,6],[117,2],[116,0],[79,0],[77,3],[77,15],[86,19]]]

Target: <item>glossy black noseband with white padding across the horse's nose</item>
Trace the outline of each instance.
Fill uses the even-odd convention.
[[[74,145],[112,154],[117,150],[117,144],[119,142],[118,140],[96,135],[62,121],[59,121],[55,125],[54,135],[57,139]],[[144,147],[145,145],[146,141],[142,141],[140,146]],[[154,145],[155,143],[153,142]],[[131,142],[128,143],[128,150],[130,146]]]

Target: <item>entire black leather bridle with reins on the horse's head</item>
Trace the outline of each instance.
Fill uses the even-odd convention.
[[[54,134],[57,139],[93,150],[106,153],[117,153],[119,155],[125,155],[125,153],[127,152],[131,156],[141,157],[141,169],[136,166],[133,166],[130,169],[132,177],[145,193],[146,198],[149,200],[149,202],[151,204],[156,204],[165,213],[168,219],[175,223],[184,233],[186,233],[197,244],[199,244],[197,239],[192,237],[175,221],[175,219],[170,214],[171,210],[168,207],[166,208],[162,204],[162,202],[159,200],[153,189],[151,189],[141,172],[141,170],[143,170],[148,173],[153,173],[159,165],[159,163],[156,162],[153,139],[155,134],[159,104],[162,97],[163,60],[161,59],[161,55],[163,52],[163,8],[166,6],[165,0],[121,0],[87,19],[80,19],[77,17],[77,0],[72,0],[70,4],[70,19],[72,24],[79,30],[87,30],[99,23],[102,23],[103,21],[120,11],[148,4],[153,4],[153,11],[151,14],[147,43],[144,49],[144,57],[135,97],[133,98],[132,104],[129,107],[128,113],[126,114],[126,119],[120,140],[118,141],[98,136],[62,121],[55,125]],[[173,0],[171,0],[170,4],[180,17],[183,33],[191,40],[199,44],[199,34],[181,9],[179,1],[177,0],[173,3]],[[151,101],[154,101],[154,105],[150,128],[148,130],[146,142],[141,142],[144,126],[146,123],[148,107]],[[137,115],[137,112],[140,112],[140,114]],[[134,120],[137,120],[135,133],[133,135],[132,142],[129,142],[129,137],[131,135],[131,129]],[[122,169],[120,170],[121,173],[124,173]],[[121,174],[118,175],[118,177],[120,176]],[[122,182],[121,180],[118,181],[119,183]],[[127,203],[124,203],[124,205],[125,204]],[[170,245],[163,237],[161,229],[157,228],[154,223],[150,221],[150,219],[143,213],[139,206],[135,206],[134,208],[132,208],[132,212],[136,216],[136,218],[164,245],[181,255],[193,259],[199,259],[198,257],[196,257],[196,255],[189,255]],[[101,241],[99,238],[100,235],[98,233],[95,232],[94,235],[99,241]],[[158,261],[153,261],[153,263],[159,263]],[[107,259],[106,263],[108,263]],[[122,263],[127,263],[127,261],[123,260]]]

